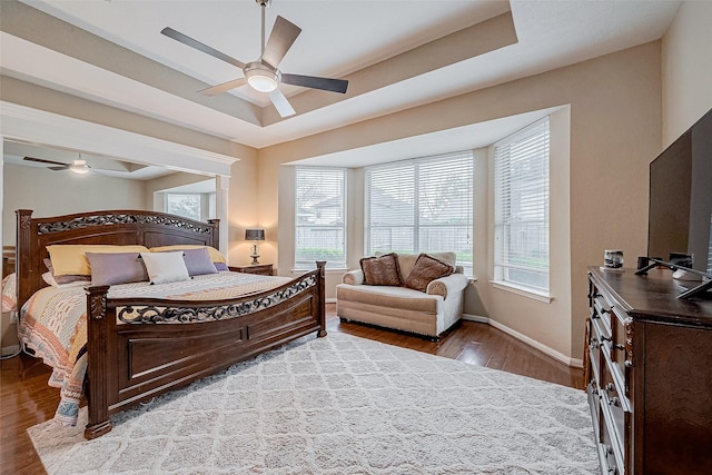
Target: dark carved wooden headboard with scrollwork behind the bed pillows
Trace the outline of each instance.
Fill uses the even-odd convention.
[[[31,209],[17,214],[18,308],[47,284],[47,246],[58,244],[144,245],[177,244],[219,248],[219,219],[195,221],[157,211],[107,210],[32,218]]]

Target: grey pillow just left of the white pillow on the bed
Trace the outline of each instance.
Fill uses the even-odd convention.
[[[85,253],[91,268],[91,285],[116,285],[148,280],[138,253]]]

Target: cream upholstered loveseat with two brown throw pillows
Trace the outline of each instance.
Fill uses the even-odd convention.
[[[387,254],[360,260],[336,286],[336,314],[437,340],[462,318],[468,278],[455,253]]]

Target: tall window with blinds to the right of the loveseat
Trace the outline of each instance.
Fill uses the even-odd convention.
[[[494,145],[494,270],[548,293],[548,118]]]

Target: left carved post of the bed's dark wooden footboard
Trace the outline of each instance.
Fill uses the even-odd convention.
[[[109,370],[108,349],[116,318],[107,318],[107,293],[109,286],[87,288],[87,398],[89,399],[89,420],[85,428],[85,438],[97,438],[111,431],[109,418],[108,384],[116,368]]]

